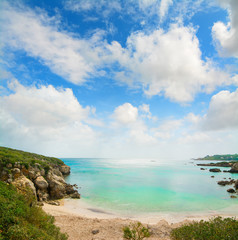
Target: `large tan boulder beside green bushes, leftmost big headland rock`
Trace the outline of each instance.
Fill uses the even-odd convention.
[[[32,197],[32,200],[36,200],[36,189],[31,180],[26,178],[24,175],[16,178],[12,185],[14,185],[18,192],[25,195],[28,199]]]

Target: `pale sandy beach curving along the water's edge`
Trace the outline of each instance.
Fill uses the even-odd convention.
[[[60,206],[44,204],[43,210],[53,215],[56,225],[62,232],[66,232],[69,240],[119,240],[123,239],[123,227],[140,221],[147,225],[152,235],[150,239],[168,240],[170,231],[186,222],[193,220],[208,220],[215,216],[234,217],[232,212],[219,214],[154,214],[139,216],[122,216],[94,208],[83,200],[61,200]]]

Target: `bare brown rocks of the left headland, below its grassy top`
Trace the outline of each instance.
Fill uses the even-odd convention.
[[[14,185],[20,193],[39,205],[43,202],[58,205],[55,200],[65,197],[80,198],[77,186],[65,182],[64,177],[69,174],[70,167],[61,160],[59,164],[44,159],[41,164],[37,159],[36,163],[2,161],[0,165],[0,180]]]

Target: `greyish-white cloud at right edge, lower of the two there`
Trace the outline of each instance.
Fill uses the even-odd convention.
[[[221,91],[212,97],[201,127],[204,130],[238,128],[238,89],[234,92]]]

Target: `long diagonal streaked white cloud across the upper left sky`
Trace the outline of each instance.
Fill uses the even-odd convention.
[[[90,39],[79,39],[59,31],[57,19],[44,12],[14,8],[3,3],[1,11],[2,42],[16,50],[24,50],[39,59],[52,72],[75,84],[82,84],[97,73],[102,47],[101,33]]]

